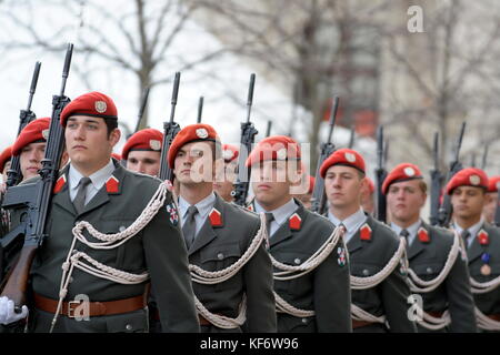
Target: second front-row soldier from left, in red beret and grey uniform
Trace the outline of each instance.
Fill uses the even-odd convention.
[[[262,223],[213,192],[220,149],[212,126],[191,124],[176,135],[168,153],[179,181],[189,262],[198,267],[192,280],[201,331],[241,332],[247,318],[248,332],[276,332],[272,265]]]

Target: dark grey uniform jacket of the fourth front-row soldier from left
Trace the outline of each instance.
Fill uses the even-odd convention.
[[[366,223],[347,243],[351,275],[372,276],[380,272],[398,250],[399,239],[387,225],[367,214]],[[406,257],[404,257],[406,260]],[[363,311],[379,317],[386,315],[386,324],[360,324],[354,322],[354,333],[413,333],[416,325],[408,318],[410,286],[407,274],[396,267],[377,286],[367,290],[352,290],[352,303]]]

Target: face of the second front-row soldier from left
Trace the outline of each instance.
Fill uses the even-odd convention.
[[[179,149],[173,162],[173,173],[181,185],[213,183],[216,161],[212,149],[212,142],[191,142]]]

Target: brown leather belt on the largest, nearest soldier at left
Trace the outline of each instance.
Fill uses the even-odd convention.
[[[61,311],[59,312],[59,314],[66,315],[70,318],[74,318],[74,310],[81,304],[82,303],[78,301],[62,302]],[[143,295],[109,302],[89,302],[88,305],[89,306],[86,306],[83,310],[89,311],[88,314],[84,314],[89,317],[129,313],[146,307]],[[34,307],[43,312],[56,313],[58,310],[58,301],[43,297],[39,294],[34,294]]]

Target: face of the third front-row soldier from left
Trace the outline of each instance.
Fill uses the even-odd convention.
[[[296,161],[267,160],[253,164],[251,184],[256,200],[264,206],[287,203],[301,173]]]

